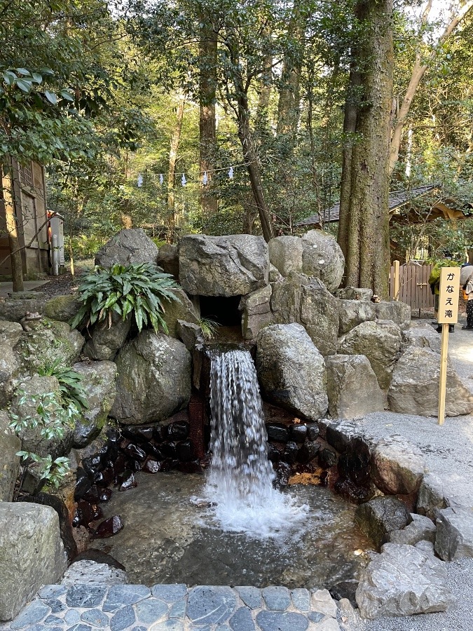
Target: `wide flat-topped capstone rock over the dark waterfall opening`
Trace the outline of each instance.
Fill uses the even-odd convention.
[[[268,246],[263,237],[188,235],[179,241],[179,280],[200,296],[239,296],[268,285]]]

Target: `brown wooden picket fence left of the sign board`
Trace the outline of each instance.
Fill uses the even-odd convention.
[[[433,265],[406,263],[397,266],[396,263],[391,266],[390,297],[409,304],[413,315],[418,311],[419,317],[422,311],[433,311],[434,297],[429,285]]]

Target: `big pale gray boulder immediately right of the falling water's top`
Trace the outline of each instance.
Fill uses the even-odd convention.
[[[316,420],[327,412],[325,362],[301,325],[272,325],[256,339],[256,369],[263,396]]]

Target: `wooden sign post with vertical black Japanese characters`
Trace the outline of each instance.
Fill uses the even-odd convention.
[[[448,327],[458,323],[458,294],[460,293],[460,268],[442,267],[440,271],[439,312],[441,325],[439,425],[445,421],[446,368],[448,359]]]

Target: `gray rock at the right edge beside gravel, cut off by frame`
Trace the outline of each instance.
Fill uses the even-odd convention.
[[[473,557],[473,510],[444,508],[437,515],[437,555],[444,561]]]

